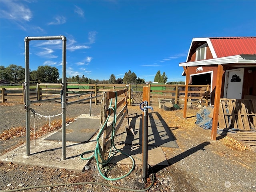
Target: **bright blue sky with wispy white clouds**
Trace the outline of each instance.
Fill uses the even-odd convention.
[[[25,68],[26,36],[66,36],[66,76],[107,80],[131,70],[154,81],[184,81],[192,38],[256,36],[256,1],[1,0],[0,65]],[[62,77],[62,41],[29,43],[30,70],[49,65]]]

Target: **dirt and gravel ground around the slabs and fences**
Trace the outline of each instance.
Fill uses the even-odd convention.
[[[32,104],[30,107],[36,113],[46,116],[61,113],[61,105],[58,102]],[[149,169],[146,184],[142,182],[142,170],[139,165],[136,165],[126,178],[108,181],[100,176],[95,160],[90,162],[89,170],[84,173],[0,162],[0,190],[43,185],[44,187],[26,189],[26,191],[256,191],[256,153],[227,136],[218,136],[217,141],[212,141],[210,130],[204,130],[194,124],[198,110],[188,110],[188,118],[184,119],[182,109],[165,111],[158,106],[153,107],[174,134],[179,148],[162,148],[169,165],[153,166],[152,170]],[[66,117],[75,118],[80,114],[88,114],[88,109],[88,103],[70,105],[66,109]],[[139,106],[128,106],[128,114],[134,113],[142,113]],[[100,114],[100,104],[92,105],[92,114]],[[61,119],[61,116],[54,117],[51,121],[58,119]],[[30,124],[34,126],[33,120]],[[36,120],[38,127],[45,124],[48,124],[48,121],[43,117]],[[22,132],[24,127],[24,104],[0,105],[0,154],[25,142]],[[19,130],[19,134],[12,134],[5,140],[7,136],[4,133],[10,129],[13,130],[12,133]],[[128,172],[130,168],[129,165],[109,164],[103,167],[102,172],[108,178],[116,178]],[[154,182],[152,182],[153,176]],[[145,190],[148,187],[150,188]]]

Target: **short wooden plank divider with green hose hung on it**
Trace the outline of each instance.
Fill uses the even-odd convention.
[[[104,157],[104,153],[108,150],[111,142],[113,141],[112,136],[116,135],[125,118],[128,121],[127,126],[130,129],[127,108],[127,92],[127,88],[114,92],[102,92],[100,130],[98,135],[98,138],[100,138],[99,144],[102,157]]]

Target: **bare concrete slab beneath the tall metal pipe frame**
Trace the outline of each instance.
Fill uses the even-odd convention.
[[[82,172],[89,160],[82,160],[80,155],[85,151],[95,149],[96,136],[87,143],[66,142],[66,160],[62,160],[62,142],[45,140],[50,134],[37,139],[35,146],[34,141],[30,142],[30,156],[26,155],[26,144],[24,144],[0,156],[0,160],[6,163],[13,162]],[[89,157],[90,155],[92,154],[87,154],[84,157]]]

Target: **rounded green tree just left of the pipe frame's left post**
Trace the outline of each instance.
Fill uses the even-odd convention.
[[[25,80],[25,68],[14,64],[5,68],[5,72],[8,74],[8,80],[10,82],[18,83],[18,81]]]

